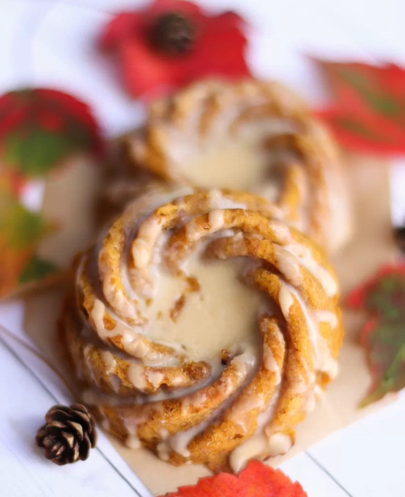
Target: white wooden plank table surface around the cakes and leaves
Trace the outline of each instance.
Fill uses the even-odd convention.
[[[0,0],[0,92],[19,85],[57,86],[88,101],[104,130],[118,134],[143,117],[94,49],[110,12],[138,0]],[[256,74],[281,79],[313,103],[325,99],[309,61],[382,60],[405,65],[404,0],[201,0],[213,10],[239,9],[257,28],[249,61]],[[405,176],[397,162],[396,178]],[[405,178],[404,178],[405,181]],[[394,213],[405,211],[396,181]],[[402,183],[404,185],[404,182]],[[0,324],[24,338],[22,303],[0,305]],[[4,336],[0,333],[0,336]],[[52,372],[14,340],[0,338],[0,495],[149,496],[101,435],[85,464],[56,468],[34,447],[46,410],[66,392]],[[282,469],[309,497],[404,497],[405,396],[336,432]]]

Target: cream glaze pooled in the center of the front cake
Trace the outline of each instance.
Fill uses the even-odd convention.
[[[182,346],[194,360],[218,358],[238,344],[256,348],[265,297],[238,278],[243,262],[204,260],[197,251],[183,266],[185,278],[160,269],[153,301],[142,310],[149,321],[145,335]]]

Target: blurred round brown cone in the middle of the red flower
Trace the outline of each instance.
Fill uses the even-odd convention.
[[[191,49],[195,30],[187,17],[177,12],[168,12],[157,18],[152,36],[155,46],[162,52],[183,54]]]

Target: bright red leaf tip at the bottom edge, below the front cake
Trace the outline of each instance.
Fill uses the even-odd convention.
[[[298,482],[279,469],[252,460],[238,476],[229,473],[200,478],[196,485],[179,487],[169,497],[307,497]],[[163,496],[161,496],[163,497]]]

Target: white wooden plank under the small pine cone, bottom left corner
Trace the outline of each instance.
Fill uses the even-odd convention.
[[[6,406],[0,411],[1,495],[136,496],[97,449],[87,461],[62,467],[43,457],[35,434],[55,400],[1,342],[0,398]]]

